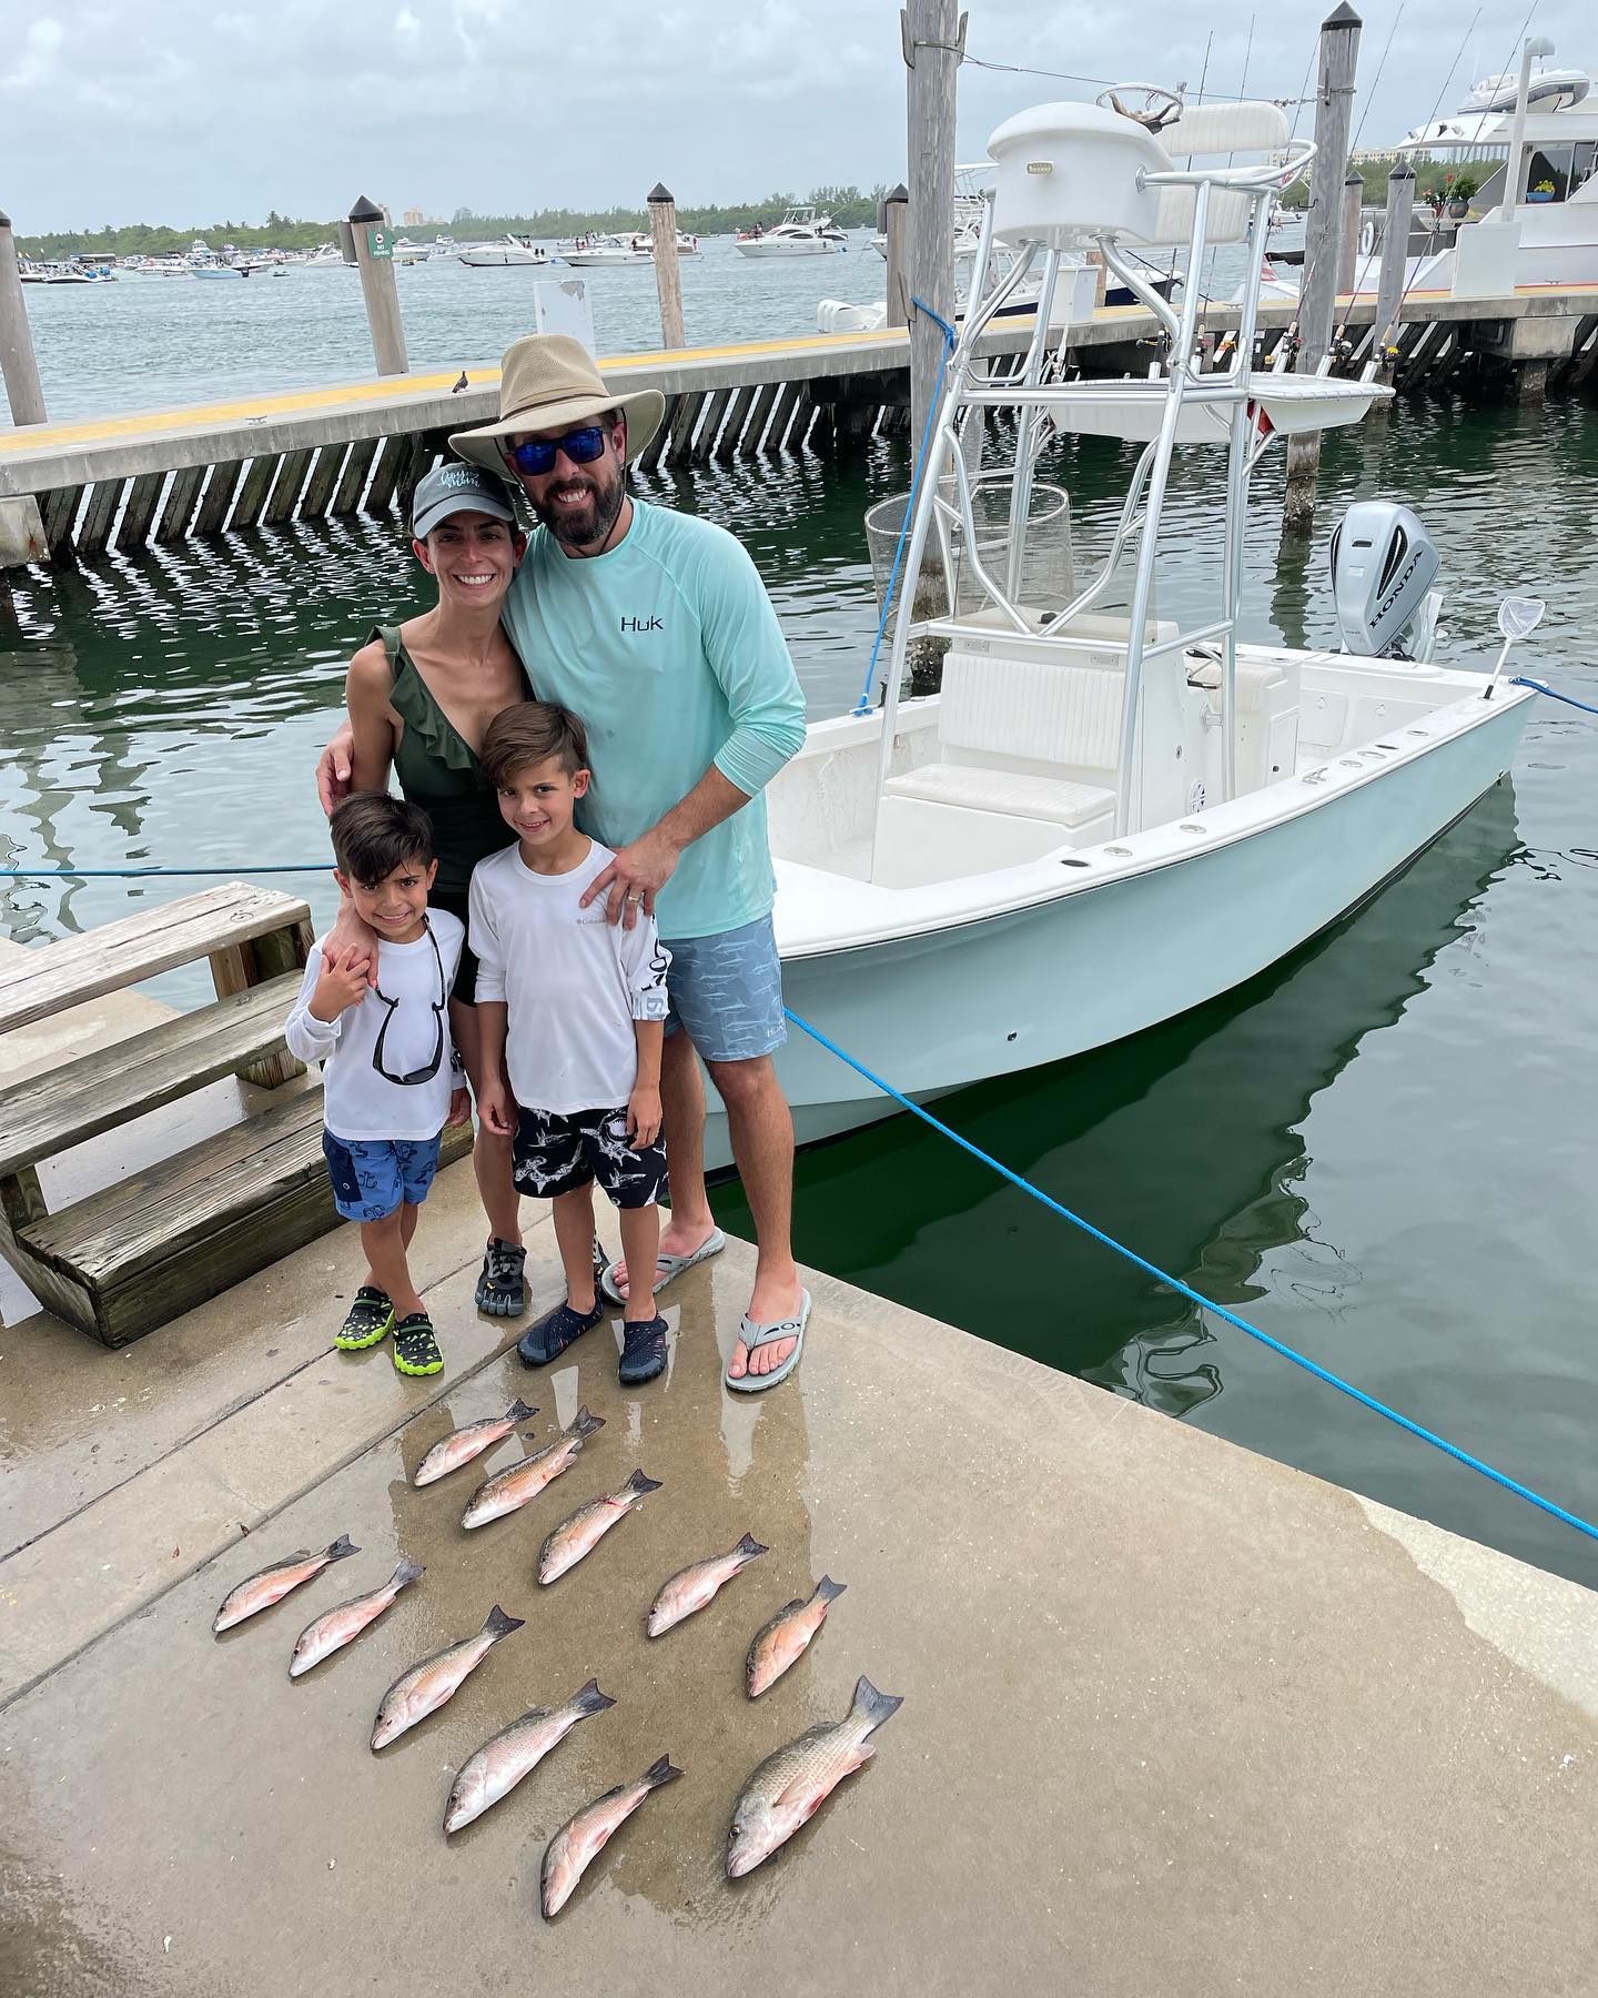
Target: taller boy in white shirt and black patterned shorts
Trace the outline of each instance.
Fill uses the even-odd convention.
[[[671,959],[653,917],[639,913],[623,929],[605,921],[603,901],[579,907],[613,859],[571,819],[589,787],[581,721],[545,701],[507,707],[489,721],[477,761],[517,839],[477,861],[471,875],[485,1075],[477,1115],[489,1131],[511,1135],[517,1187],[553,1201],[565,1303],[517,1345],[529,1367],[543,1367],[605,1311],[593,1285],[595,1179],[621,1211],[627,1267],[655,1267]],[[665,1369],[665,1319],[649,1289],[637,1289],[643,1295],[625,1307],[623,1385]]]

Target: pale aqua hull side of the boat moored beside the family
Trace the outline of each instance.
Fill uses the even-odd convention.
[[[795,951],[779,861],[785,1003],[921,1101],[1141,1033],[1256,977],[1402,871],[1508,771],[1528,701],[1474,695],[1424,749],[1290,815],[1272,817],[1270,793],[1240,799],[1222,811],[1252,807],[1256,829],[951,927]],[[1302,785],[1274,789],[1302,799]],[[793,1027],[777,1073],[801,1145],[897,1109]],[[721,1169],[731,1147],[711,1105],[707,1165]]]

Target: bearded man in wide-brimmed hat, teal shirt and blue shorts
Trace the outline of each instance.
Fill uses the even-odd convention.
[[[499,410],[449,442],[519,484],[541,521],[503,621],[539,699],[587,727],[583,825],[615,861],[585,899],[625,925],[645,909],[671,951],[681,1031],[667,1031],[661,1071],[671,1225],[657,1287],[721,1247],[697,1049],[727,1105],[759,1249],[727,1385],[773,1387],[799,1359],[811,1299],[789,1235],[793,1119],[771,1061],[785,1027],[761,793],[805,739],[803,695],[733,535],[627,494],[625,466],[665,414],[659,392],[617,398],[575,340],[529,336],[505,354]],[[617,1265],[615,1293],[631,1281]]]

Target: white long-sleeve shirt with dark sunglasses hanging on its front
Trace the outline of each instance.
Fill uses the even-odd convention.
[[[318,1019],[310,1011],[322,977],[318,937],[284,1039],[300,1061],[322,1063],[322,1121],[334,1137],[415,1141],[443,1129],[449,1091],[465,1081],[449,1039],[449,987],[463,941],[459,917],[429,909],[427,935],[415,943],[378,939],[376,991],[368,987],[338,1019]],[[435,1051],[431,1075],[400,1079],[427,1069]]]

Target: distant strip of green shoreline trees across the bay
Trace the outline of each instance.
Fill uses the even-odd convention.
[[[833,216],[841,228],[863,228],[877,222],[877,204],[887,194],[887,182],[879,182],[869,192],[855,186],[813,188],[805,196],[767,194],[763,202],[735,202],[729,206],[679,208],[677,226],[691,236],[731,236],[737,230],[753,228],[757,222],[773,224],[781,220],[785,208],[797,202],[811,202]],[[400,230],[401,236],[427,238],[439,230],[449,230],[457,238],[493,238],[513,230],[517,236],[535,236],[555,242],[563,236],[585,236],[593,230],[607,230],[615,236],[631,236],[647,230],[649,216],[639,208],[539,208],[525,216],[479,216],[469,208],[457,208],[449,222],[411,224]],[[100,230],[54,230],[42,236],[18,236],[16,248],[26,258],[70,258],[70,256],[182,256],[194,238],[200,236],[220,250],[234,244],[238,250],[316,250],[338,238],[338,222],[294,222],[274,208],[266,222],[206,222],[192,228],[170,228],[168,224],[130,222],[122,228],[106,224]]]

